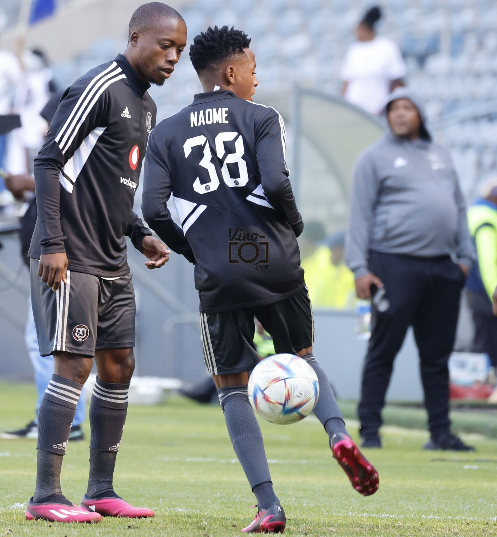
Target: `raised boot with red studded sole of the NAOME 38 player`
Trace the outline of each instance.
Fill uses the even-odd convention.
[[[378,490],[378,472],[359,451],[354,440],[346,434],[335,435],[332,440],[333,456],[349,477],[352,487],[363,496]]]

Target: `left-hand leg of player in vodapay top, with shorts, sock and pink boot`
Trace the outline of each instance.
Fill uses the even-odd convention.
[[[33,315],[40,354],[54,354],[54,372],[38,411],[37,480],[26,507],[26,518],[99,520],[98,513],[85,512],[71,503],[60,487],[71,424],[95,353],[96,278],[67,271],[67,283],[62,282],[60,289],[53,292],[41,281],[37,270],[37,262],[32,260]]]

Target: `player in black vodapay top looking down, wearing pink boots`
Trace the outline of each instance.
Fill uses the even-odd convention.
[[[38,221],[29,251],[40,354],[54,375],[38,414],[38,468],[26,518],[64,522],[153,517],[112,486],[134,369],[135,301],[126,238],[149,269],[170,253],[133,213],[156,107],[147,89],[171,75],[186,25],[169,6],[138,8],[124,55],[90,70],[64,92],[35,159]],[[90,476],[77,507],[62,495],[60,470],[71,422],[95,356],[90,404]]]

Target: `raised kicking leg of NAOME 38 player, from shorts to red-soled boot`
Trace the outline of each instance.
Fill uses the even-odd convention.
[[[315,416],[328,433],[329,446],[352,486],[364,496],[378,489],[378,473],[364,458],[345,429],[342,413],[328,377],[312,352],[314,320],[307,288],[286,299],[257,308],[256,317],[273,337],[277,353],[297,354],[314,369],[319,380]]]

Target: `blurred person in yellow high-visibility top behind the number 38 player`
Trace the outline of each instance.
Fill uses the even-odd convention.
[[[354,274],[345,265],[344,248],[345,231],[339,231],[302,261],[314,308],[354,308]]]

